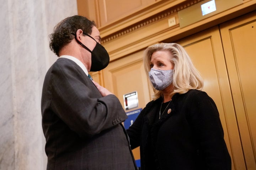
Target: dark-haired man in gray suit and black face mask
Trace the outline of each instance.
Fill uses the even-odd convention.
[[[59,58],[42,91],[47,170],[137,169],[121,124],[127,118],[121,103],[87,76],[109,63],[100,40],[95,23],[82,16],[64,19],[50,35]]]

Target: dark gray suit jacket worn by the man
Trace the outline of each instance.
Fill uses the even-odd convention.
[[[114,95],[102,97],[73,61],[59,58],[42,91],[47,170],[134,170],[127,115]]]

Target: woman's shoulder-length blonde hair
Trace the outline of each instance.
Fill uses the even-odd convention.
[[[148,75],[151,67],[150,60],[151,56],[156,51],[169,51],[170,60],[174,64],[173,71],[173,81],[174,91],[170,95],[175,93],[184,94],[190,89],[202,90],[203,79],[194,67],[190,57],[188,56],[186,50],[179,44],[176,43],[160,43],[149,46],[144,51],[143,62],[145,72]],[[154,95],[153,99],[157,99],[162,95],[161,91],[153,88]]]

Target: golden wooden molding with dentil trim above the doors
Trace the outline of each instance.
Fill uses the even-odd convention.
[[[164,1],[164,0],[162,0]],[[175,42],[204,29],[216,26],[220,23],[244,15],[256,9],[256,0],[244,0],[243,4],[220,12],[189,26],[180,28],[178,21],[178,11],[193,4],[201,2],[181,0],[171,1],[172,4],[162,3],[157,7],[152,6],[153,10],[144,12],[143,15],[131,16],[133,19],[126,18],[125,21],[113,22],[108,26],[99,28],[102,36],[102,45],[110,55],[110,61],[128,56],[158,42]],[[161,2],[161,1],[160,1]],[[176,5],[173,4],[176,2]],[[168,6],[169,5],[169,6]],[[145,17],[146,16],[146,17]],[[168,19],[175,17],[176,24],[172,27],[168,25]]]

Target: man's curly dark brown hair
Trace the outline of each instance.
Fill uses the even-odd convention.
[[[83,16],[72,16],[63,19],[60,21],[55,27],[50,37],[50,49],[59,56],[59,51],[72,39],[74,39],[74,35],[78,29],[81,29],[86,34],[91,34],[92,27],[96,24],[94,21],[90,21],[86,17]],[[72,34],[73,33],[73,34]]]

